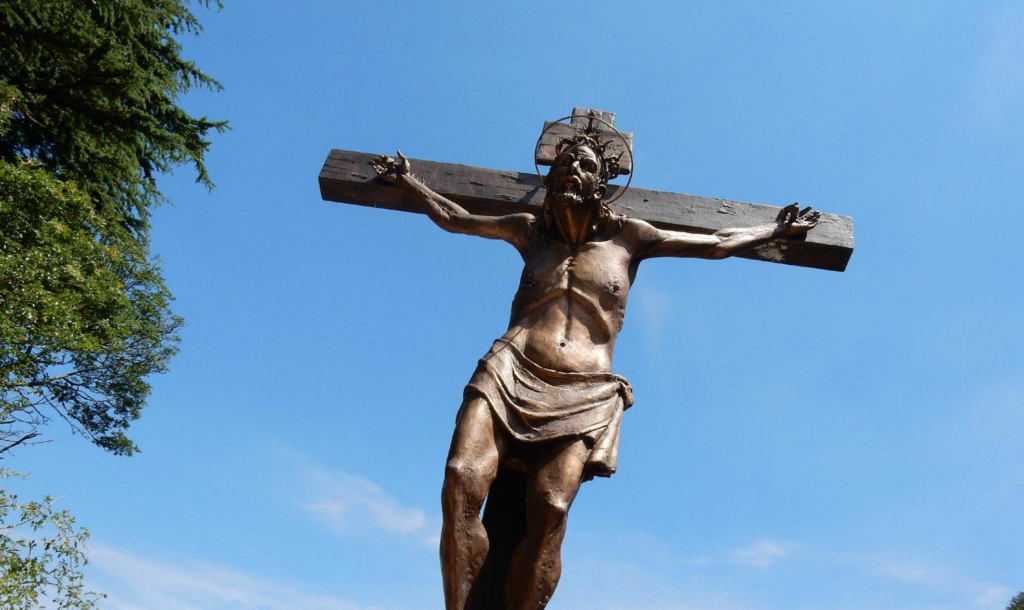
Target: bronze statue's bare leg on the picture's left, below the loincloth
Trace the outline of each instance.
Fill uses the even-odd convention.
[[[505,448],[503,432],[495,426],[485,400],[474,397],[463,405],[441,488],[441,577],[446,610],[463,610],[487,557],[480,508],[498,475]]]

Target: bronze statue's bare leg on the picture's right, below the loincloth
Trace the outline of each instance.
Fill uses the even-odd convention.
[[[555,593],[566,518],[590,455],[582,439],[552,441],[537,449],[526,487],[526,536],[512,556],[506,610],[540,610]]]

